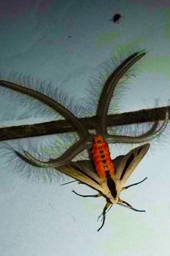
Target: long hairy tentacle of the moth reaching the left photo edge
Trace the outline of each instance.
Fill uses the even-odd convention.
[[[55,111],[61,114],[61,116],[63,116],[66,120],[70,121],[71,126],[76,128],[76,131],[78,132],[79,137],[84,138],[89,136],[88,129],[84,127],[84,124],[81,124],[81,121],[76,116],[74,116],[74,114],[72,114],[71,111],[69,111],[66,107],[62,106],[57,101],[54,101],[52,98],[48,97],[47,95],[44,95],[43,93],[37,92],[36,90],[32,90],[30,88],[25,88],[22,85],[17,85],[13,82],[7,82],[7,81],[1,80],[0,85],[3,86],[4,88],[9,88],[19,93],[29,95],[32,98],[36,98],[38,101],[45,103],[45,105],[50,106],[50,108],[53,108]]]

